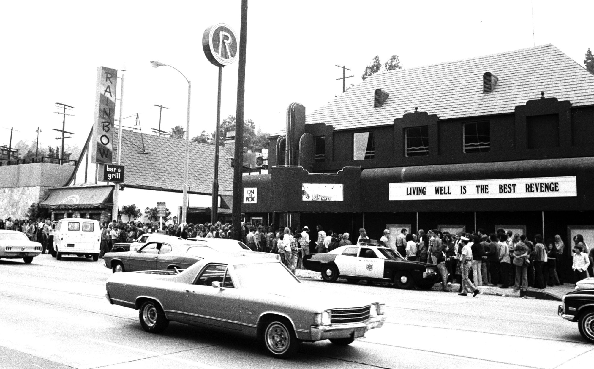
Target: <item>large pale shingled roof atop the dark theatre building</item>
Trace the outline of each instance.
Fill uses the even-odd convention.
[[[499,80],[482,92],[482,77]],[[375,89],[390,94],[374,108]],[[393,124],[394,118],[419,111],[440,119],[513,113],[527,100],[570,100],[572,106],[594,105],[594,75],[553,45],[479,56],[425,67],[379,72],[309,113],[306,124],[324,122],[334,130]],[[272,136],[284,134],[284,130]]]

